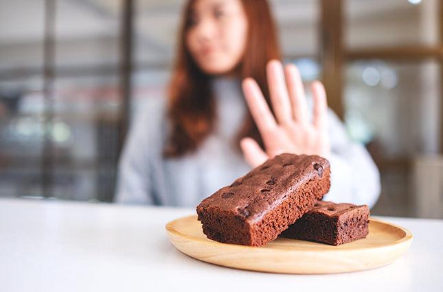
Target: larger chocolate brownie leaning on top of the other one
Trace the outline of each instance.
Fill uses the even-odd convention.
[[[313,208],[330,188],[320,156],[280,154],[203,199],[198,220],[208,239],[260,246]]]

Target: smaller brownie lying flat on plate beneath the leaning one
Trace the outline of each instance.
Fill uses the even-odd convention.
[[[319,201],[313,209],[282,232],[281,236],[341,245],[367,236],[369,215],[367,205]]]

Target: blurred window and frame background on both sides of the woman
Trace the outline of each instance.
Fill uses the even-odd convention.
[[[0,0],[0,197],[112,201],[133,113],[164,97],[183,3]],[[323,81],[380,169],[372,213],[443,218],[443,3],[270,3],[284,61]]]

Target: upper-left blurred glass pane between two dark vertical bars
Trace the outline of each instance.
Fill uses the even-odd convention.
[[[57,1],[56,66],[113,66],[119,62],[123,1]]]

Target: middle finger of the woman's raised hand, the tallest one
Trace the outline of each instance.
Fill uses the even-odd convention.
[[[279,123],[287,123],[293,117],[282,63],[277,60],[269,61],[266,66],[266,76],[275,117]]]

